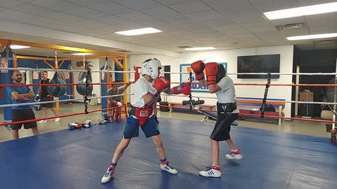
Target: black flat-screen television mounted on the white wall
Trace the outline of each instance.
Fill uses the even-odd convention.
[[[280,55],[253,55],[237,57],[237,73],[279,73]],[[237,74],[237,78],[267,78],[267,74]],[[271,75],[279,78],[279,75]]]

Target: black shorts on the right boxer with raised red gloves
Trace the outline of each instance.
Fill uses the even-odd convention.
[[[237,119],[238,113],[225,113],[218,115],[216,126],[214,126],[211,139],[214,141],[227,141],[230,139],[230,125]]]

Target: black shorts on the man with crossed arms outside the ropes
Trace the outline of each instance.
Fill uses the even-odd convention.
[[[12,110],[12,122],[22,121],[22,120],[34,120],[35,114],[32,109],[25,110]],[[22,123],[12,124],[12,130],[20,130],[22,127]],[[37,127],[37,122],[29,122],[23,123],[23,127],[25,129],[32,129]]]

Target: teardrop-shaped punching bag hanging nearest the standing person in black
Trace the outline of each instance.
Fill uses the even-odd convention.
[[[53,78],[49,81],[49,84],[65,84],[65,75],[60,71],[56,71]],[[47,90],[48,94],[51,94],[53,97],[60,97],[65,95],[67,87],[65,85],[53,85],[48,86]]]

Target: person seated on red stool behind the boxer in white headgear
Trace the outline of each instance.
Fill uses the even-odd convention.
[[[112,83],[116,83],[116,84],[112,84],[111,85],[111,88],[110,90],[107,90],[107,95],[108,96],[111,96],[111,95],[117,95],[117,94],[123,94],[124,90],[126,90],[128,88],[128,86],[131,85],[133,81],[130,80],[130,83],[124,85],[124,86],[121,86],[121,87],[118,87],[118,84],[116,81],[113,81]],[[119,109],[116,109],[115,110],[115,113],[114,113],[114,118],[112,118],[112,109],[109,109],[109,108],[112,108],[114,106],[121,106],[121,102],[123,101],[123,97],[122,96],[118,96],[118,97],[108,97],[107,98],[107,115],[110,117],[111,120],[115,120],[117,121],[118,120],[118,116],[119,116]]]

